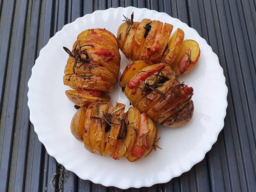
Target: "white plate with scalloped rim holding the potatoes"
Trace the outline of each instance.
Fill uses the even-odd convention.
[[[132,12],[134,21],[149,18],[172,24],[173,32],[181,28],[185,39],[196,40],[201,49],[196,67],[179,78],[180,82],[185,81],[194,88],[192,120],[181,128],[158,125],[159,146],[163,150],[153,151],[147,158],[134,163],[91,154],[73,137],[69,126],[76,109],[66,97],[64,92],[68,87],[62,82],[68,59],[62,46],[71,49],[77,35],[88,28],[106,28],[116,34],[123,14],[130,17]],[[120,74],[128,63],[121,53]],[[40,51],[28,87],[30,121],[48,154],[81,179],[123,189],[165,183],[200,162],[223,128],[228,105],[228,89],[218,57],[196,30],[166,13],[134,7],[95,11],[65,25]],[[112,104],[117,100],[129,108],[129,101],[118,84],[109,95]]]

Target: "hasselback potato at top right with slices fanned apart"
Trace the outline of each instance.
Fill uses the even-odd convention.
[[[167,63],[176,76],[190,71],[199,59],[199,45],[194,40],[183,41],[180,28],[169,40],[171,24],[149,19],[133,22],[133,13],[131,19],[125,17],[124,21],[117,30],[117,42],[127,59]]]

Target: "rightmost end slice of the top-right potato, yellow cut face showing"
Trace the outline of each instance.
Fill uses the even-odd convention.
[[[171,67],[176,76],[180,76],[190,71],[200,57],[200,48],[196,41],[188,39],[182,42],[180,51]]]

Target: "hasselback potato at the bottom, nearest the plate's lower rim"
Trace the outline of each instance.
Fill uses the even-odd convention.
[[[153,121],[136,108],[124,112],[124,104],[92,102],[73,116],[70,129],[91,153],[129,161],[140,160],[156,148],[158,129]]]

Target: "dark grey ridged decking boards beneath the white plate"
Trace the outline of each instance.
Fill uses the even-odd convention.
[[[203,161],[150,188],[81,180],[47,154],[29,121],[27,83],[41,48],[76,18],[119,6],[166,12],[195,28],[218,55],[229,91],[224,129]],[[0,10],[0,191],[256,190],[254,0],[0,0]]]

